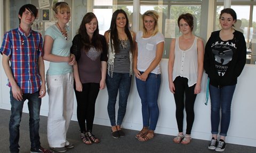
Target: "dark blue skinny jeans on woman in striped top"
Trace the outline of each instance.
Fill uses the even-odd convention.
[[[113,77],[107,74],[106,85],[108,90],[108,116],[111,126],[120,125],[123,122],[127,99],[130,93],[132,77],[129,73],[113,73]],[[119,90],[119,108],[116,122],[116,97]]]

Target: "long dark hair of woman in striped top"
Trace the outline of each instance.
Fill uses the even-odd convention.
[[[134,45],[133,45],[133,41],[132,41],[132,35],[131,35],[130,30],[129,30],[129,20],[128,20],[127,14],[126,14],[125,11],[122,10],[122,9],[116,10],[116,11],[112,14],[110,29],[107,31],[107,33],[110,32],[110,39],[109,39],[109,42],[112,43],[112,41],[113,41],[113,46],[114,46],[115,52],[116,52],[116,53],[119,53],[119,38],[118,38],[118,33],[117,33],[117,28],[116,28],[116,18],[117,18],[117,15],[118,15],[119,13],[124,14],[124,16],[125,16],[125,18],[126,18],[126,25],[125,25],[124,31],[125,31],[125,34],[126,34],[127,38],[128,38],[129,41],[130,41],[130,44],[131,44],[131,52],[133,52]],[[112,45],[111,45],[111,47],[112,47]]]

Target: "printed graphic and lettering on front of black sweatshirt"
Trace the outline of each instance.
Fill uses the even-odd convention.
[[[224,76],[230,65],[230,61],[233,59],[234,51],[236,50],[235,41],[234,39],[222,41],[219,38],[212,44],[211,48],[214,55],[215,68],[219,76]]]

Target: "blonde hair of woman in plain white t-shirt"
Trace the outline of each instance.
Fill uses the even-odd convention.
[[[156,11],[154,10],[149,10],[149,11],[146,11],[143,15],[142,15],[142,20],[143,20],[143,28],[142,28],[142,32],[143,32],[143,36],[147,34],[147,29],[145,28],[144,26],[144,18],[146,16],[149,16],[149,17],[152,17],[154,20],[155,20],[155,27],[154,27],[154,31],[152,33],[152,36],[155,36],[157,33],[158,33],[158,18],[159,18],[159,15]]]

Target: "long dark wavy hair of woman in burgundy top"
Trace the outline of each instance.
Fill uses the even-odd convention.
[[[90,40],[89,35],[87,34],[85,24],[90,23],[92,19],[97,20],[97,28],[93,33],[92,39]],[[98,24],[98,19],[96,15],[92,12],[86,13],[84,15],[84,18],[81,22],[81,25],[78,29],[78,34],[81,35],[81,48],[84,47],[85,51],[89,51],[90,47],[95,47],[97,51],[101,51],[103,44],[101,42],[100,34],[99,34],[99,24]]]

